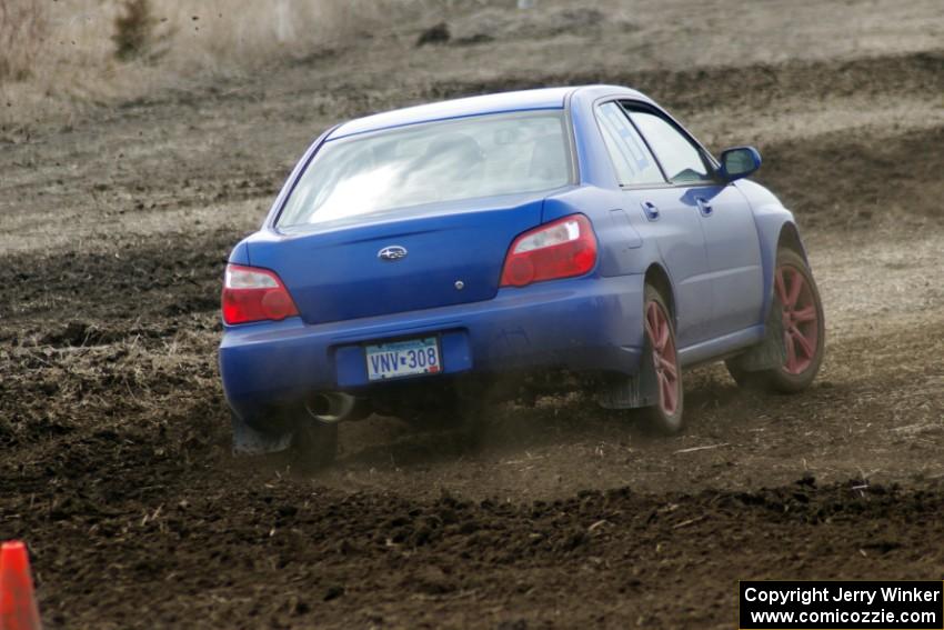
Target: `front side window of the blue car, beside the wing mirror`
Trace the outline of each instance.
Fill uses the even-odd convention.
[[[645,110],[630,110],[629,114],[649,142],[669,181],[713,181],[713,174],[702,152],[674,124]]]

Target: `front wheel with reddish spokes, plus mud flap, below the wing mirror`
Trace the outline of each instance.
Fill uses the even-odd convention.
[[[781,249],[765,341],[780,350],[780,361],[759,371],[746,370],[737,357],[725,364],[741,387],[794,393],[810,387],[816,378],[825,337],[823,304],[813,273],[802,256]]]

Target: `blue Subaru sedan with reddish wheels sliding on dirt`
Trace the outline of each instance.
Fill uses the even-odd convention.
[[[371,411],[448,421],[568,388],[675,432],[682,369],[716,360],[744,387],[806,388],[823,308],[793,216],[746,179],[760,166],[613,86],[328,130],[229,258],[234,449],[323,464]]]

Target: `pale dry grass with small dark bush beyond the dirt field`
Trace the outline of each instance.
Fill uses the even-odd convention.
[[[446,2],[0,0],[0,123],[352,46]]]

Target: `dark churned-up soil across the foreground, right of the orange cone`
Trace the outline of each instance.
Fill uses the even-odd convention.
[[[225,494],[203,480],[138,509],[23,502],[16,518],[58,523],[54,543],[33,547],[39,592],[57,584],[40,601],[56,627],[725,627],[745,574],[934,573],[942,508],[940,490],[817,488],[811,478],[754,492],[586,490],[513,504],[300,492],[272,478]],[[104,579],[108,589],[86,586]]]

